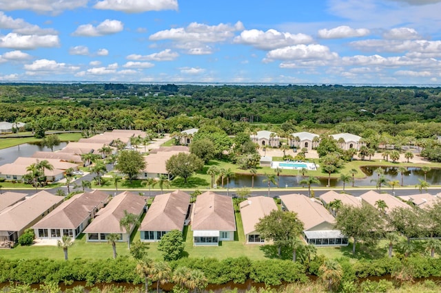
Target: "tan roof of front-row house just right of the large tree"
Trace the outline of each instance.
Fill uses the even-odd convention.
[[[280,199],[290,212],[297,213],[298,219],[303,222],[305,230],[310,230],[320,224],[334,225],[336,219],[329,211],[317,202],[317,199],[305,195],[280,195]]]

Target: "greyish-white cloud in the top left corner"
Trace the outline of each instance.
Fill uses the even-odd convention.
[[[39,13],[59,14],[64,10],[85,7],[88,0],[0,0],[2,10],[32,10]]]

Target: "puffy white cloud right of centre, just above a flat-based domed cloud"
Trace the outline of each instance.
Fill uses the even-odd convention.
[[[273,50],[289,45],[312,43],[313,39],[307,34],[290,34],[277,30],[244,30],[234,38],[234,43],[252,45],[261,50]]]

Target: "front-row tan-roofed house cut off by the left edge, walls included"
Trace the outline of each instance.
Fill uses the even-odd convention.
[[[40,191],[0,211],[1,243],[15,243],[23,232],[56,208],[64,197]]]

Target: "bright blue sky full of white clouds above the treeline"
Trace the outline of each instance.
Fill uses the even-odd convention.
[[[0,0],[0,81],[433,84],[441,0]]]

